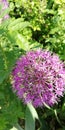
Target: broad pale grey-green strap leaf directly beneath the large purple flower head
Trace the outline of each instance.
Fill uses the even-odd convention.
[[[38,118],[38,114],[35,108],[31,105],[27,105],[26,109],[26,120],[25,120],[25,130],[35,130],[35,118]]]

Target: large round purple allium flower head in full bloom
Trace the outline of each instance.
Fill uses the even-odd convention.
[[[12,87],[25,104],[53,106],[65,91],[64,63],[46,50],[30,51],[20,57],[12,71]]]

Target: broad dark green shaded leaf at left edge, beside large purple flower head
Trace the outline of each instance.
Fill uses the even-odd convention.
[[[4,51],[0,48],[0,84],[9,76],[15,61],[14,51]]]

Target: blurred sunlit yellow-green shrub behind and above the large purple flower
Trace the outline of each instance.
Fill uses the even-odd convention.
[[[43,48],[58,53],[65,59],[65,2],[64,0],[13,0],[11,17],[22,17],[30,22],[23,30],[29,41],[37,41]]]

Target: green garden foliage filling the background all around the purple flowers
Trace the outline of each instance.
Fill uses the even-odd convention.
[[[4,10],[0,3],[0,130],[65,130],[65,96],[34,108],[12,90],[17,59],[39,48],[65,62],[65,1],[8,0]]]

